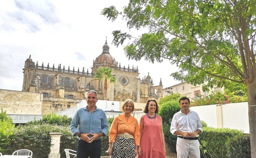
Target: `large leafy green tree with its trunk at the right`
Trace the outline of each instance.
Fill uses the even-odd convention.
[[[180,68],[171,75],[192,85],[245,84],[251,155],[256,157],[255,0],[130,0],[123,12],[111,6],[102,14],[112,21],[121,14],[129,29],[148,28],[125,46],[129,59],[170,60]],[[132,38],[120,30],[112,34],[117,46]]]

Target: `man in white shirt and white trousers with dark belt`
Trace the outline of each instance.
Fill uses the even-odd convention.
[[[174,114],[170,131],[177,135],[177,158],[200,158],[198,136],[203,126],[198,114],[189,109],[190,100],[182,97],[179,100],[181,110]]]

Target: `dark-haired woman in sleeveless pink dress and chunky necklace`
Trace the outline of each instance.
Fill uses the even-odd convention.
[[[138,158],[165,158],[163,124],[162,118],[156,115],[159,112],[157,102],[148,100],[143,112],[146,114],[139,121]]]

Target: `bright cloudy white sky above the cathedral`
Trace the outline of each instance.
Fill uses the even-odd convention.
[[[111,44],[112,31],[122,30],[135,37],[147,30],[128,30],[121,18],[108,21],[100,14],[104,7],[114,5],[122,10],[129,0],[1,0],[0,1],[0,89],[22,90],[23,68],[31,55],[39,66],[57,67],[91,73],[93,60],[107,43],[109,53],[121,64],[138,67],[139,78],[148,73],[155,86],[160,78],[163,88],[180,83],[170,76],[178,70],[168,60],[154,64],[128,60],[124,45]],[[125,44],[132,42],[126,41]]]

